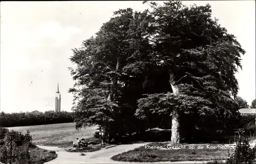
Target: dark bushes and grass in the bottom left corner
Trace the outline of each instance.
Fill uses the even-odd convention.
[[[10,149],[11,138],[12,151]],[[39,164],[57,157],[54,151],[47,151],[32,145],[31,138],[30,131],[20,133],[0,126],[0,161],[10,163],[10,154],[12,154],[13,164]]]

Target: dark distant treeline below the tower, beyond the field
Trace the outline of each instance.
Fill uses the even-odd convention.
[[[46,119],[45,119],[46,118]],[[0,113],[0,126],[13,127],[13,126],[32,126],[58,123],[73,122],[72,112],[59,112],[47,111],[46,113],[33,111],[21,113]]]

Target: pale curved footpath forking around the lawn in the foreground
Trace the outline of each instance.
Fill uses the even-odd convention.
[[[146,145],[148,143],[139,143],[139,144],[127,144],[127,145],[117,145],[115,147],[111,147],[108,149],[101,149],[99,151],[94,152],[86,152],[84,156],[81,156],[80,153],[77,152],[67,152],[63,148],[58,147],[49,147],[49,146],[39,146],[41,149],[54,150],[58,157],[53,159],[45,164],[64,164],[64,163],[136,163],[136,162],[121,162],[114,161],[110,158],[119,153],[133,150],[140,146]],[[142,162],[137,162],[142,163]],[[154,163],[154,162],[151,162]],[[177,162],[155,162],[155,163],[206,163],[206,161],[177,161]]]

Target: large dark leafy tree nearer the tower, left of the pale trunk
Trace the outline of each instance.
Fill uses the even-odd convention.
[[[95,37],[73,50],[70,60],[76,68],[70,69],[76,83],[70,92],[75,93],[77,102],[73,106],[76,128],[98,124],[104,129],[104,141],[107,134],[112,138],[123,131],[131,132],[138,121],[134,113],[140,95],[166,90],[154,81],[158,70],[149,60],[152,46],[148,37],[153,28],[147,13],[132,9],[114,12]]]

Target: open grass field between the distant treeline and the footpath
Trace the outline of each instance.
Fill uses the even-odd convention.
[[[45,146],[72,146],[76,138],[90,138],[93,136],[97,126],[75,129],[75,123],[49,124],[36,126],[8,127],[19,132],[29,130],[33,138],[33,144]]]

